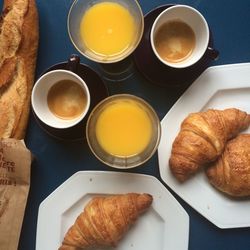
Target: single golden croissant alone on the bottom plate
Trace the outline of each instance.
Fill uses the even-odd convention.
[[[93,198],[69,228],[59,250],[116,246],[152,201],[151,195],[137,193]]]

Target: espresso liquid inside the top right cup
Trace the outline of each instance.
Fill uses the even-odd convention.
[[[177,63],[192,54],[195,34],[188,24],[176,19],[162,24],[155,34],[154,43],[163,60]]]

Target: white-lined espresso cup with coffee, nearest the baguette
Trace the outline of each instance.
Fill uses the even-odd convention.
[[[52,70],[35,83],[31,104],[46,125],[63,129],[79,123],[90,106],[90,93],[84,80],[69,70]]]

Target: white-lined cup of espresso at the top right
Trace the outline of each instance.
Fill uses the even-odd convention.
[[[209,28],[201,13],[187,5],[175,5],[155,19],[150,42],[155,56],[166,66],[186,68],[209,49]]]

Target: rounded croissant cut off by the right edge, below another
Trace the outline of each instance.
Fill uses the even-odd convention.
[[[230,140],[206,174],[220,191],[235,197],[250,196],[250,134]]]

